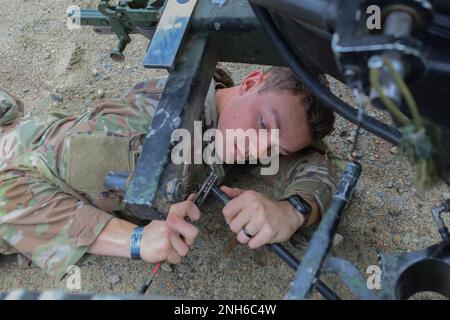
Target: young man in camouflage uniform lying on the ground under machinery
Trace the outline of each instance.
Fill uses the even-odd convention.
[[[137,225],[126,220],[123,194],[105,190],[104,179],[109,171],[133,172],[164,83],[138,83],[71,117],[20,117],[23,104],[0,90],[0,254],[19,253],[58,278],[85,253],[131,256]],[[205,102],[206,127],[280,129],[279,172],[262,177],[279,195],[223,187],[233,198],[223,215],[239,242],[250,248],[282,242],[318,221],[336,183],[321,141],[333,123],[333,113],[289,69],[254,71],[237,86],[217,69]],[[249,172],[256,171],[250,166]],[[307,218],[286,200],[294,194],[312,207]],[[185,219],[200,218],[193,197],[173,204],[165,221],[144,227],[143,260],[179,263],[188,253],[199,234]],[[125,218],[112,214],[118,212]]]

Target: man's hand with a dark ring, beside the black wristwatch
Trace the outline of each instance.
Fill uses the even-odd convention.
[[[288,201],[274,201],[252,190],[221,189],[232,198],[223,208],[225,220],[238,241],[252,249],[288,240],[304,222]]]

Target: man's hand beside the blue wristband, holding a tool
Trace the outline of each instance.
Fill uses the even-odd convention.
[[[199,234],[193,224],[186,221],[200,219],[201,213],[194,204],[195,195],[186,201],[175,203],[170,207],[165,221],[152,221],[144,229],[141,243],[141,257],[150,263],[168,261],[180,263],[187,255]]]

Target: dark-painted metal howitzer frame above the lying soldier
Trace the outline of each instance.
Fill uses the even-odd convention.
[[[380,14],[379,28],[368,24],[369,7]],[[99,33],[114,32],[116,61],[125,59],[128,34],[144,35],[151,40],[144,66],[169,71],[131,182],[120,174],[109,180],[112,188],[125,191],[127,208],[138,218],[164,219],[170,204],[184,199],[189,168],[169,161],[171,133],[193,132],[217,61],[289,66],[329,108],[394,145],[406,145],[420,168],[430,168],[433,160],[433,172],[450,183],[450,4],[445,0],[121,0],[117,6],[102,0],[98,10],[70,16]],[[316,73],[367,95],[393,115],[395,126],[344,103]],[[450,297],[450,240],[440,216],[448,203],[433,212],[442,242],[380,256],[379,294],[367,289],[353,264],[328,255],[360,173],[358,164],[347,164],[287,298],[306,298],[323,273],[339,276],[358,298],[404,299],[424,290]]]

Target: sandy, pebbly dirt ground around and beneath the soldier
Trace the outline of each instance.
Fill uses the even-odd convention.
[[[69,5],[96,7],[97,1],[0,0],[0,87],[22,98],[26,112],[38,116],[50,111],[79,114],[133,83],[163,71],[142,66],[148,40],[133,36],[123,64],[109,58],[115,36],[99,36],[90,29],[69,30],[65,13]],[[237,81],[255,66],[229,64]],[[353,103],[341,83],[331,79],[332,90]],[[378,118],[387,116],[368,109]],[[354,126],[339,118],[327,139],[346,157]],[[358,155],[363,165],[362,191],[346,211],[338,232],[343,240],[334,253],[356,262],[365,274],[376,265],[377,250],[385,253],[425,248],[439,240],[431,208],[449,188],[440,186],[419,198],[412,186],[406,159],[382,140],[365,132]],[[270,194],[270,187],[234,172],[227,184]],[[448,221],[447,217],[447,223]],[[185,298],[280,299],[289,289],[293,272],[266,249],[252,251],[244,246],[226,253],[231,233],[225,227],[217,203],[207,201],[201,235],[182,264],[164,266],[149,289],[151,295]],[[299,254],[287,244],[289,248]],[[89,256],[81,263],[81,290],[91,293],[131,293],[142,284],[150,267],[121,258]],[[367,276],[367,275],[366,275]],[[344,298],[349,293],[326,279]],[[21,270],[15,256],[0,256],[0,292],[14,288],[66,289],[39,269]],[[314,298],[320,298],[314,294]],[[435,298],[436,295],[419,295]]]

